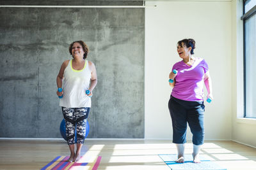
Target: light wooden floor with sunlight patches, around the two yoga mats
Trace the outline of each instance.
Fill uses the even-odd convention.
[[[192,147],[187,143],[186,153],[192,153]],[[88,139],[82,152],[92,158],[102,156],[98,169],[170,170],[158,154],[173,154],[176,148],[168,140]],[[63,139],[0,138],[0,169],[41,169],[60,155],[69,155]],[[228,170],[256,169],[256,149],[232,141],[205,141],[201,155],[209,155]]]

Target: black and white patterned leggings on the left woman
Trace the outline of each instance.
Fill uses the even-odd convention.
[[[77,143],[84,143],[86,134],[86,121],[90,108],[65,108],[62,107],[62,113],[66,122],[66,135],[68,145],[76,143],[75,129],[77,135]]]

